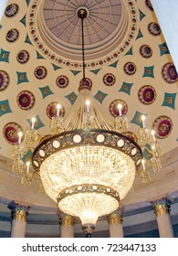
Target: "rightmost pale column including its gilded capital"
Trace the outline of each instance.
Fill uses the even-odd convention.
[[[156,215],[160,238],[173,238],[173,226],[170,219],[171,201],[167,197],[152,201]]]

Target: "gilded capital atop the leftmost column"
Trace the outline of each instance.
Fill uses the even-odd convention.
[[[16,203],[15,201],[11,202],[8,205],[8,208],[11,210],[12,219],[17,219],[21,221],[26,221],[28,215],[29,206]]]

